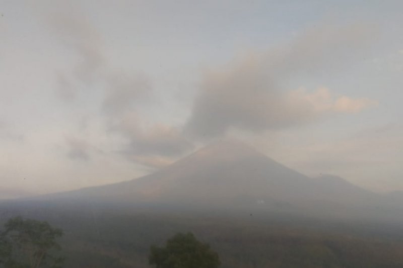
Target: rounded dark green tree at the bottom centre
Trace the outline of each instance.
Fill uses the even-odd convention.
[[[156,268],[216,268],[220,259],[209,244],[198,241],[192,233],[178,233],[165,247],[151,246],[149,263]]]

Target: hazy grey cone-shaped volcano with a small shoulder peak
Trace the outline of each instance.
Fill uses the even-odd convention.
[[[219,141],[135,180],[39,197],[124,204],[207,207],[351,205],[375,194],[339,177],[310,178],[253,147]]]

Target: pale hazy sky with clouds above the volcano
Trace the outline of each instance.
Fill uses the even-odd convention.
[[[235,138],[403,191],[401,1],[0,1],[0,198]]]

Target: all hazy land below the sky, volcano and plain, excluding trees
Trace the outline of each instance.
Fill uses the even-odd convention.
[[[0,223],[22,215],[61,227],[72,268],[150,267],[148,247],[184,230],[208,241],[224,268],[397,268],[402,200],[310,178],[225,140],[131,181],[0,202]]]

